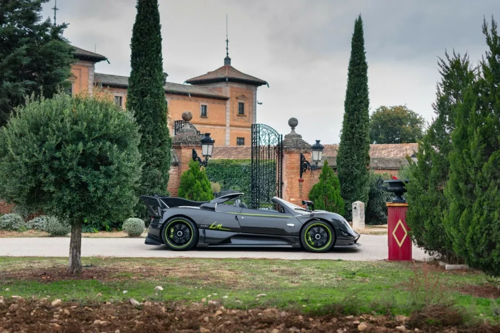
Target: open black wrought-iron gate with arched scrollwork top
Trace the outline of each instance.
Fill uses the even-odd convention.
[[[264,124],[251,125],[251,207],[270,208],[283,187],[283,136]]]

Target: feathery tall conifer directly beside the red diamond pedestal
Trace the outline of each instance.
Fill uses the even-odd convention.
[[[443,188],[449,172],[448,155],[452,149],[451,132],[455,128],[457,103],[474,80],[467,54],[445,53],[438,60],[441,81],[436,86],[436,114],[418,144],[417,163],[410,165],[410,183],[406,185],[408,212],[406,223],[413,241],[429,255],[455,261],[451,240],[443,226],[443,212],[448,208]]]

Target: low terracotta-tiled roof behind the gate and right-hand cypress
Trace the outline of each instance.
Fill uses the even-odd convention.
[[[336,156],[338,145],[325,144],[323,145],[323,156],[334,157],[336,165]],[[371,144],[370,145],[370,158],[372,163],[380,163],[380,166],[388,165],[401,165],[401,161],[405,160],[406,154],[411,156],[418,148],[417,143],[399,143],[399,144]],[[250,146],[214,146],[212,158],[219,159],[247,159],[251,156]],[[391,161],[388,161],[391,160]],[[333,161],[333,160],[332,160]],[[328,159],[328,163],[330,159]],[[395,163],[395,164],[390,164]]]

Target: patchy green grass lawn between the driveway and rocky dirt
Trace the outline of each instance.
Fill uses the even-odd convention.
[[[73,280],[64,274],[67,259],[0,258],[0,295],[81,304],[129,298],[217,301],[227,309],[277,307],[317,315],[339,309],[345,315],[409,315],[452,304],[491,323],[498,323],[500,314],[500,295],[484,274],[424,263],[193,258],[83,258],[82,263],[82,276]]]

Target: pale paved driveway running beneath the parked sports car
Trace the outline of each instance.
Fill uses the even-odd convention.
[[[165,246],[144,245],[140,238],[83,238],[82,257],[160,257],[160,258],[267,258],[267,259],[342,259],[353,261],[383,260],[387,258],[387,236],[361,235],[356,250],[332,250],[328,253],[310,253],[301,249],[220,249],[204,248],[187,252],[167,250]],[[0,257],[67,257],[69,238],[0,238]],[[413,246],[413,259],[423,260],[423,250]]]

